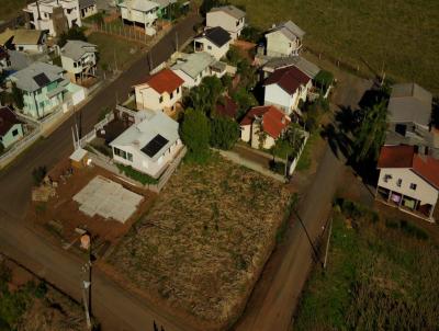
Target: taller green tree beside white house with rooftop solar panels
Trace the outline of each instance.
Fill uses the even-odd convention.
[[[206,115],[199,110],[188,109],[184,112],[180,136],[184,145],[188,146],[192,159],[203,162],[209,156],[209,141],[211,137]]]

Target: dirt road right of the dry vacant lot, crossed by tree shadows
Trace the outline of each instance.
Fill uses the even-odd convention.
[[[338,105],[356,107],[370,82],[348,76],[339,82],[335,95]],[[299,204],[301,216],[313,241],[322,233],[340,176],[346,170],[326,144],[313,182]],[[292,217],[292,229],[286,243],[275,252],[267,264],[241,319],[237,331],[289,330],[303,286],[307,279],[313,251],[301,224]]]

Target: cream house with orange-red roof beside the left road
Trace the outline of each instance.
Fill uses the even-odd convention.
[[[172,70],[159,71],[145,83],[134,87],[137,109],[171,114],[181,102],[183,83]]]

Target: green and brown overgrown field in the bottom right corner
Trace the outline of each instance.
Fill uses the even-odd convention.
[[[327,271],[312,273],[294,330],[437,330],[438,243],[358,210],[336,213]]]

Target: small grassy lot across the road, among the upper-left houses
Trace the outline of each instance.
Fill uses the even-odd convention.
[[[142,48],[145,47],[145,45],[98,32],[89,35],[88,41],[98,45],[99,66],[108,65],[109,68],[114,68],[116,61],[119,70],[128,68],[140,57]]]

